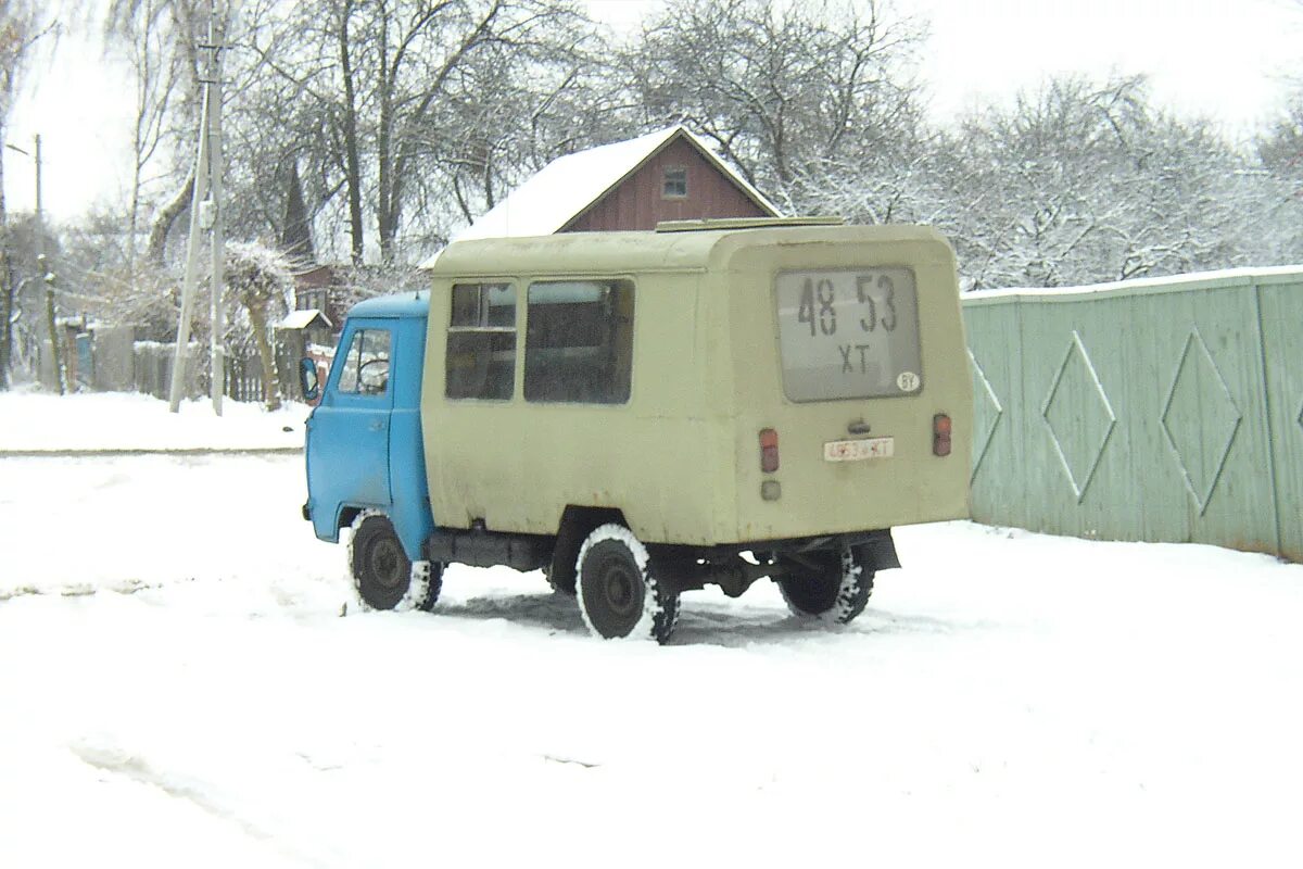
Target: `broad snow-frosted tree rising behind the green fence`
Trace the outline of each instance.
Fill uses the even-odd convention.
[[[1157,111],[1141,77],[1052,79],[969,116],[945,147],[937,223],[969,287],[1261,262],[1252,159],[1212,124]]]

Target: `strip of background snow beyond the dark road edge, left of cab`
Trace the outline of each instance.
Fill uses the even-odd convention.
[[[308,408],[276,413],[223,401],[222,417],[207,399],[168,403],[141,393],[79,392],[59,396],[34,390],[0,392],[0,453],[177,449],[302,449]]]

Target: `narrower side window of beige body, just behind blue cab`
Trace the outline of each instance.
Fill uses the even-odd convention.
[[[453,284],[444,395],[506,401],[515,390],[516,288]]]

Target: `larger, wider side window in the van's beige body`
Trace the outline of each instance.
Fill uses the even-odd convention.
[[[633,284],[529,285],[525,400],[624,404],[633,360]]]

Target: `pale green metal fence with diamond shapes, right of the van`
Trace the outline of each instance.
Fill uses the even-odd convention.
[[[964,298],[973,516],[1303,562],[1303,267]]]

